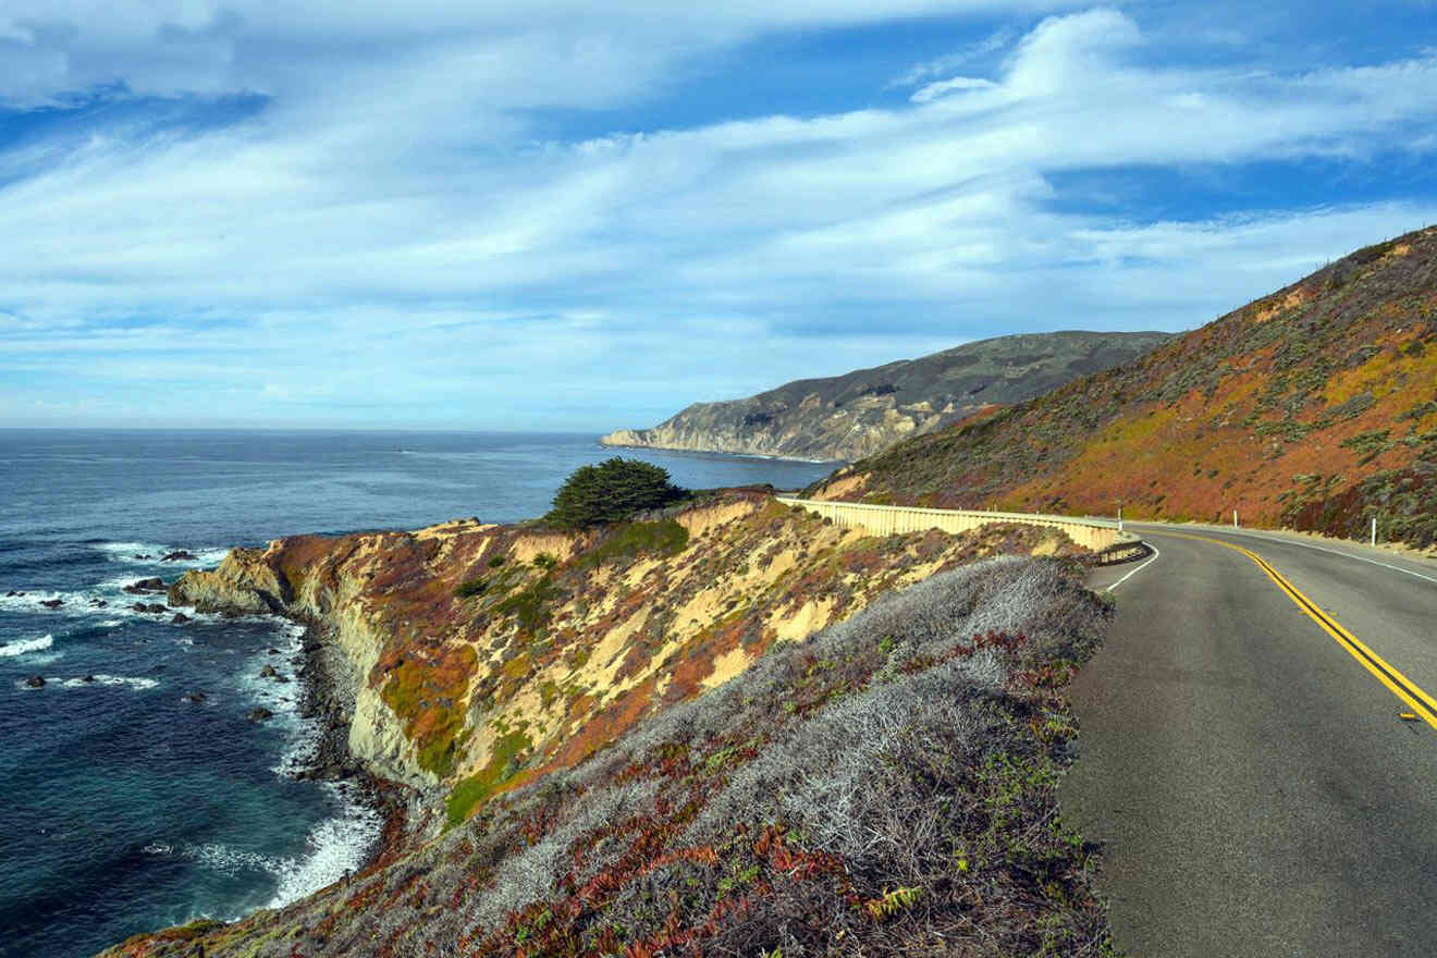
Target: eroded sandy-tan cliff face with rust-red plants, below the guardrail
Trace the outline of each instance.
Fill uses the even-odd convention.
[[[604,533],[460,521],[282,539],[187,573],[170,602],[319,626],[352,695],[354,757],[458,820],[775,642],[990,552],[1050,550],[1042,539],[877,539],[730,496]]]

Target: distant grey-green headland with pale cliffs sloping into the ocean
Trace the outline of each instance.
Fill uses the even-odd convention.
[[[1141,356],[1168,333],[1000,336],[799,379],[747,399],[697,402],[651,429],[619,429],[605,445],[848,461],[931,432],[992,405],[1022,402],[1076,376]]]

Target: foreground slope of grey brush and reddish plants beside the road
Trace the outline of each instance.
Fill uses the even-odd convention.
[[[805,564],[874,562],[855,544]],[[106,955],[1114,954],[1055,797],[1108,616],[1062,560],[938,573],[351,880]]]

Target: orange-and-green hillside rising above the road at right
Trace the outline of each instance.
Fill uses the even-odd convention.
[[[855,462],[812,494],[1437,541],[1437,228],[1145,356]]]

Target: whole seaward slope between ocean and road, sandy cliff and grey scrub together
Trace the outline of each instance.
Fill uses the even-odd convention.
[[[308,622],[306,681],[329,676],[332,727],[398,811],[352,880],[106,954],[1096,947],[1053,783],[1058,689],[1106,609],[1027,557],[1053,553],[1075,549],[872,537],[744,491],[591,533],[234,550],[171,605]]]

